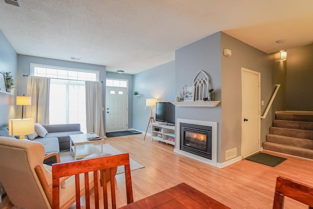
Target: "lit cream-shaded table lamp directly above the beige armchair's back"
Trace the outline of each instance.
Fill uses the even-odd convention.
[[[9,120],[9,135],[20,136],[25,139],[24,135],[33,134],[35,132],[35,119],[11,119]]]

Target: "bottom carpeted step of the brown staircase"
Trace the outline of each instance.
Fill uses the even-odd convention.
[[[263,149],[265,150],[271,150],[275,152],[313,159],[313,149],[306,149],[306,148],[296,147],[296,146],[291,146],[291,145],[278,144],[278,143],[273,143],[269,141],[263,142],[262,145],[263,145]]]

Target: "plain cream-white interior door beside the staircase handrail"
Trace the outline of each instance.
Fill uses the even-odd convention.
[[[260,72],[242,68],[242,157],[260,150]]]

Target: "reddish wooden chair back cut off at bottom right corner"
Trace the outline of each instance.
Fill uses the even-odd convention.
[[[304,203],[313,209],[313,187],[292,181],[284,177],[277,177],[273,209],[284,208],[284,198],[289,197]]]

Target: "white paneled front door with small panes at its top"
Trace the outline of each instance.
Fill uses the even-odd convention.
[[[106,87],[106,132],[128,129],[127,88]]]

